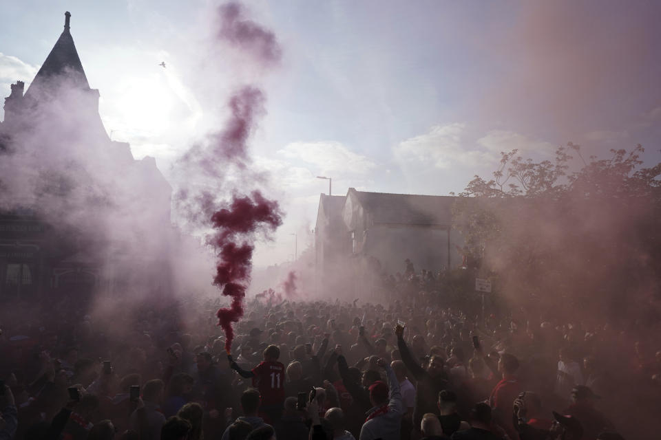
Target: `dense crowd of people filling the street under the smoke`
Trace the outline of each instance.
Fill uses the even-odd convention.
[[[471,317],[430,275],[388,304],[250,300],[229,354],[218,299],[4,303],[0,440],[659,437],[655,329]]]

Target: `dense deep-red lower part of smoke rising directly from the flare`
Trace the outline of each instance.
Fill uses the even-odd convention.
[[[250,270],[255,246],[253,234],[274,231],[282,223],[277,201],[265,199],[259,191],[251,197],[233,197],[228,208],[211,216],[216,229],[212,244],[219,250],[219,261],[213,284],[222,287],[223,296],[232,298],[229,308],[218,310],[218,325],[225,333],[225,351],[230,353],[234,339],[233,322],[243,316],[243,298],[250,283]]]

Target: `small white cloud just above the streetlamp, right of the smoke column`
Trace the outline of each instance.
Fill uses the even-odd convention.
[[[293,142],[277,153],[314,165],[322,174],[364,175],[377,168],[372,159],[350,151],[339,142]]]

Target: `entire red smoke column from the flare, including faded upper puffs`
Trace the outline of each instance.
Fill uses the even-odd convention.
[[[238,48],[241,59],[250,63],[262,67],[277,64],[282,51],[275,35],[245,15],[245,9],[239,3],[221,5],[216,16],[218,40]],[[224,128],[209,135],[207,142],[192,146],[180,163],[193,167],[203,177],[213,179],[214,187],[220,190],[228,183],[227,177],[222,174],[228,168],[239,171],[239,179],[244,185],[257,181],[258,175],[249,169],[248,140],[258,119],[266,113],[265,100],[258,87],[240,87],[229,99],[231,115]],[[190,191],[183,188],[178,191],[176,202],[193,221],[199,217],[211,217],[216,231],[209,237],[209,243],[218,254],[213,284],[222,289],[223,296],[231,298],[229,308],[218,310],[218,325],[225,333],[225,350],[229,354],[234,338],[232,323],[243,316],[243,299],[250,283],[255,233],[273,232],[282,223],[280,208],[277,201],[265,199],[259,191],[252,192],[250,196],[234,195],[229,206],[221,210],[216,208],[216,193],[208,190]]]

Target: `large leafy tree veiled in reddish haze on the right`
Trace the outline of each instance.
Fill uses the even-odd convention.
[[[656,305],[661,164],[642,167],[643,151],[585,161],[569,143],[541,162],[501,153],[493,178],[475,176],[454,205],[466,251],[529,307],[612,316]],[[582,163],[571,172],[570,153]]]

